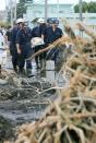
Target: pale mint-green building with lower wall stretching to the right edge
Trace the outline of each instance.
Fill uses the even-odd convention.
[[[29,26],[33,26],[31,22],[36,17],[45,17],[44,4],[27,2],[26,5],[27,10],[26,14],[24,14],[24,17],[29,22]],[[57,4],[48,4],[48,17],[58,17]],[[72,4],[59,4],[59,17],[68,19],[71,24],[80,21],[80,14],[74,13]],[[88,23],[94,24],[96,22],[96,13],[83,13],[83,19],[84,21],[89,20]],[[63,27],[63,25],[60,25],[60,27]]]

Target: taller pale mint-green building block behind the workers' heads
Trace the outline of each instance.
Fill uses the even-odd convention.
[[[73,13],[72,4],[59,4],[59,17],[63,17],[65,13]],[[48,17],[57,17],[57,4],[48,4]],[[45,17],[44,4],[27,4],[26,19],[33,21],[36,17]]]

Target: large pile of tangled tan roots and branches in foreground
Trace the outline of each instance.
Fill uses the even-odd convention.
[[[67,59],[67,63],[61,69],[63,76],[70,75],[70,85],[57,88],[59,97],[50,103],[39,121],[19,128],[15,143],[96,142],[95,36],[86,43],[82,38],[80,40],[70,26],[64,26],[69,39],[74,45],[73,55]],[[87,34],[91,36],[88,29]],[[87,44],[91,50],[84,52]]]

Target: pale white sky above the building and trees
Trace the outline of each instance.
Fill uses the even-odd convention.
[[[5,1],[7,0],[0,0],[0,10],[4,10],[5,9]],[[59,1],[60,3],[77,3],[79,0],[49,0],[51,2],[57,2]],[[89,1],[96,1],[96,0],[84,0],[86,2],[89,2]]]

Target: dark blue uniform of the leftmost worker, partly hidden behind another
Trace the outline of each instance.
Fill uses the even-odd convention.
[[[19,32],[19,27],[13,27],[11,31],[11,39],[10,39],[10,52],[12,55],[12,64],[14,68],[14,71],[16,71],[17,67],[17,49],[16,49],[16,35]]]

